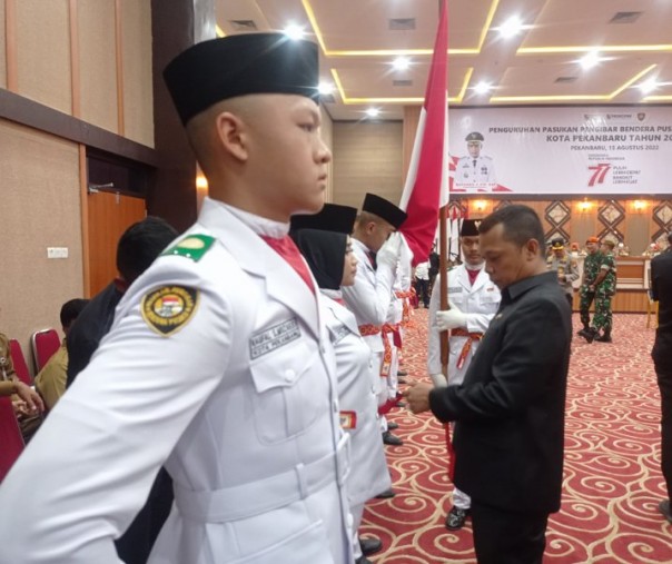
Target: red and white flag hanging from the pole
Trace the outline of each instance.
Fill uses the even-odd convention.
[[[448,202],[447,90],[448,11],[443,0],[425,102],[399,202],[408,215],[401,231],[413,251],[413,266],[427,260],[436,235],[438,209]]]

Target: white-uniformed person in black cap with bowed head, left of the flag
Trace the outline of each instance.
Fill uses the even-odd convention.
[[[343,288],[343,299],[355,314],[359,333],[374,354],[374,386],[382,414],[389,410],[391,402],[394,400],[389,397],[387,385],[392,369],[392,348],[386,321],[402,245],[401,235],[395,231],[405,220],[406,212],[391,201],[375,194],[365,196],[353,231],[353,251],[359,267],[355,284]],[[402,439],[387,428],[384,416],[381,417],[381,423],[383,442],[402,445]]]

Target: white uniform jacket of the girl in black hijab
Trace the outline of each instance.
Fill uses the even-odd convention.
[[[381,441],[376,394],[370,384],[372,352],[359,335],[352,311],[328,297],[323,299],[336,353],[340,420],[350,435],[347,491],[350,505],[355,506],[392,487]]]

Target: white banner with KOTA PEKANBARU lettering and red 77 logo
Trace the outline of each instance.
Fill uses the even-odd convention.
[[[448,131],[453,192],[672,194],[672,108],[451,108]]]

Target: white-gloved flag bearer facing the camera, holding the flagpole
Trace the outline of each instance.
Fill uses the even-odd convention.
[[[436,278],[429,301],[429,337],[427,370],[436,386],[457,386],[464,380],[483,333],[500,307],[500,289],[485,271],[485,261],[478,245],[480,224],[476,219],[465,219],[459,231],[459,245],[464,263],[448,270],[448,300],[451,308],[439,311],[441,284]],[[449,330],[448,374],[442,374],[439,332]],[[451,453],[451,456],[453,454]],[[453,463],[451,463],[452,465]],[[471,499],[455,487],[453,507],[446,516],[445,525],[454,531],[462,528],[468,516]]]

